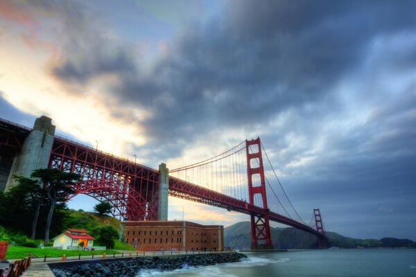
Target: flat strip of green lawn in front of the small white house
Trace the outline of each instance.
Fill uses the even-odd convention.
[[[9,245],[6,253],[6,259],[23,259],[29,255],[34,255],[40,258],[43,258],[45,255],[47,257],[61,257],[63,254],[66,254],[67,257],[78,256],[90,256],[102,255],[103,253],[112,254],[119,253],[114,250],[97,250],[97,251],[78,251],[78,250],[62,250],[62,249],[40,249],[40,248],[31,248],[31,247],[19,247],[16,245]]]

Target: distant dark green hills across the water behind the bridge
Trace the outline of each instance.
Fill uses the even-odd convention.
[[[406,247],[416,248],[416,242],[397,238],[358,239],[348,238],[334,232],[326,232],[331,247],[340,248],[377,248],[377,247]],[[318,240],[314,235],[295,228],[276,228],[271,230],[272,242],[275,249],[316,249]],[[225,247],[233,249],[250,249],[250,222],[238,222],[224,229]]]

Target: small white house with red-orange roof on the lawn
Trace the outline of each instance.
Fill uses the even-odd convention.
[[[53,247],[78,247],[80,243],[84,243],[84,247],[91,248],[94,243],[94,238],[89,235],[87,230],[83,229],[67,229],[64,233],[53,238]]]

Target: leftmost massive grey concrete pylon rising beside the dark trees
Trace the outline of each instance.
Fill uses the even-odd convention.
[[[15,186],[14,175],[30,177],[33,170],[47,168],[55,135],[55,125],[47,116],[36,118],[31,134],[25,139],[21,152],[12,163],[6,190]]]

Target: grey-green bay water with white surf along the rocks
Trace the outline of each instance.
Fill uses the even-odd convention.
[[[243,262],[141,276],[416,277],[416,249],[331,249],[245,253]]]

